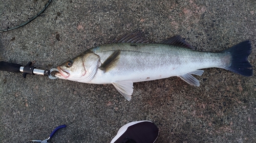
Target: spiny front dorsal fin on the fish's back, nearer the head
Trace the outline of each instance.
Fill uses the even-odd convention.
[[[123,37],[112,41],[112,43],[149,43],[149,41],[142,38],[142,32],[135,31],[129,35],[124,35]]]

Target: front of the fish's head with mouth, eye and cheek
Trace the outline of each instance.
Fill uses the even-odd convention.
[[[76,56],[75,58],[60,64],[57,69],[58,72],[55,74],[56,77],[73,81],[78,80],[87,73],[82,56]]]

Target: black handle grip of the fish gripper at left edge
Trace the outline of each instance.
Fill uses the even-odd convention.
[[[0,71],[20,72],[19,68],[21,66],[22,65],[19,65],[19,64],[1,61],[0,62]]]

